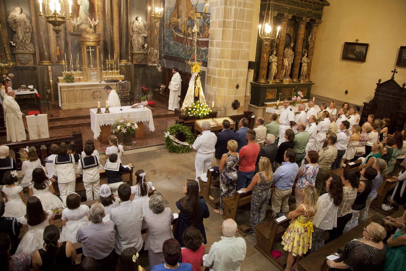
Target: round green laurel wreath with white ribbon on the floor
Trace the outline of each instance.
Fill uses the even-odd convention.
[[[176,137],[177,134],[182,133],[185,135],[186,143],[189,143],[191,146],[194,142],[194,135],[190,131],[190,128],[188,126],[184,126],[182,124],[174,124],[166,130],[165,134],[170,134],[173,137]],[[165,147],[166,150],[169,152],[174,152],[174,153],[188,153],[190,151],[190,146],[188,145],[181,145],[181,144],[175,144],[173,140],[170,137],[165,137]]]

